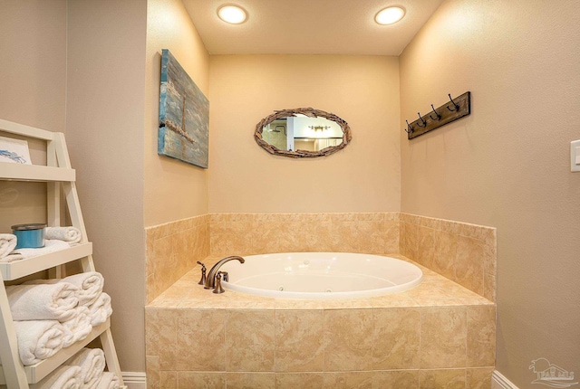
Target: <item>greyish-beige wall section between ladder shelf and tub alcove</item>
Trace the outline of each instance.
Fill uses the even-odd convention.
[[[147,4],[68,1],[67,141],[122,371],[145,370],[143,128]]]

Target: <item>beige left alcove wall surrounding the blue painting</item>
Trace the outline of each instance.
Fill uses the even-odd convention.
[[[145,226],[208,213],[208,170],[157,154],[161,50],[208,96],[209,55],[180,0],[150,0],[145,100]]]

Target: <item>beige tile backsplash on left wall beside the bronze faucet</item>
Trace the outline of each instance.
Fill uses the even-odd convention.
[[[209,255],[209,215],[145,229],[147,304]]]

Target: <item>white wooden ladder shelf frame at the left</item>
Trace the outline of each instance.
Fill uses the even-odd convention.
[[[2,359],[0,384],[6,384],[8,389],[34,388],[35,384],[52,373],[71,356],[74,356],[82,347],[99,338],[108,371],[119,377],[121,388],[126,388],[123,384],[121,367],[112,340],[111,318],[108,318],[101,325],[93,327],[90,335],[82,341],[63,348],[54,356],[36,365],[24,366],[20,360],[14,321],[4,281],[19,280],[38,271],[54,269],[72,261],[79,261],[83,272],[94,271],[95,268],[92,261],[92,242],[87,240],[81,205],[76,191],[76,172],[71,166],[63,133],[33,128],[4,119],[0,119],[0,132],[45,141],[47,161],[46,166],[0,162],[0,180],[48,183],[46,185],[48,225],[61,225],[60,204],[61,194],[63,194],[73,227],[78,228],[82,233],[81,242],[70,248],[25,260],[0,263],[0,357]]]

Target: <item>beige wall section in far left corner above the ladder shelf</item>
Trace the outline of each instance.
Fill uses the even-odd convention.
[[[66,1],[0,1],[0,118],[64,130]]]

